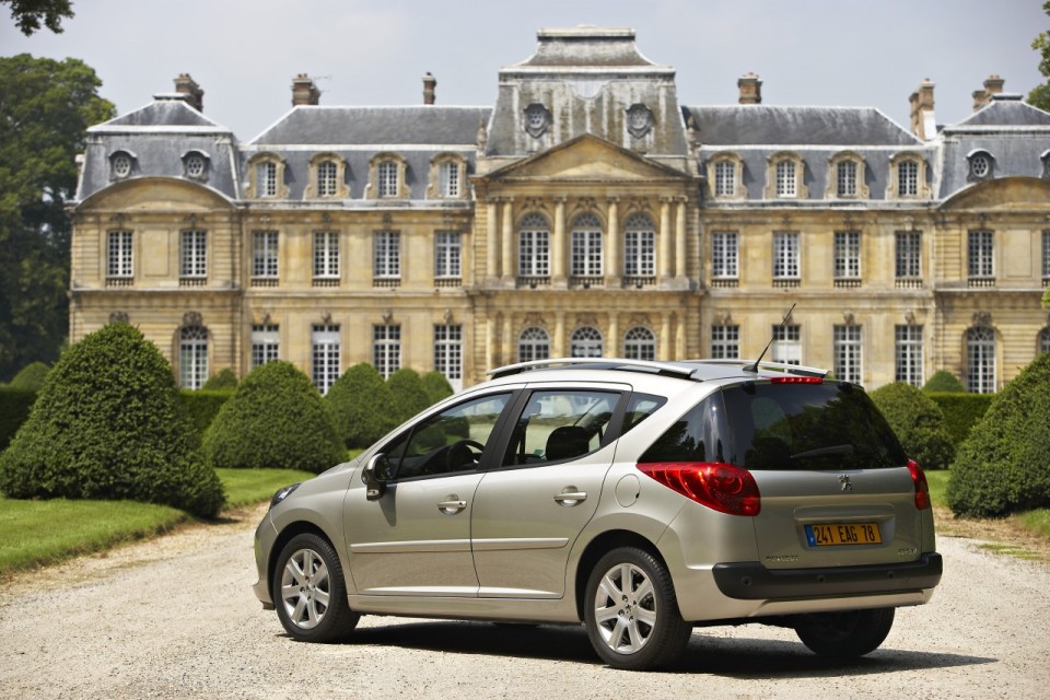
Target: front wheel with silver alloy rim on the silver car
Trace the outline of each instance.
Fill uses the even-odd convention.
[[[324,537],[293,537],[277,558],[273,602],[285,631],[304,642],[346,639],[361,616],[350,610],[336,550]]]

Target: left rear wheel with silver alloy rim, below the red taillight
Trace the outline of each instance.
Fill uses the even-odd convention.
[[[584,599],[587,637],[615,668],[651,670],[674,663],[692,627],[681,619],[667,568],[637,547],[605,555],[591,572]]]

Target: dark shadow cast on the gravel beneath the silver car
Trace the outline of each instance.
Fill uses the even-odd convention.
[[[493,625],[419,621],[358,628],[350,646],[400,646],[446,654],[600,662],[582,626]],[[726,678],[822,678],[954,668],[995,663],[996,658],[897,649],[876,650],[852,661],[817,656],[802,642],[705,637],[697,630],[681,660],[665,673],[708,674]]]

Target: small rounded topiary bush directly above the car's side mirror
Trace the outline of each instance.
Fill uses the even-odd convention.
[[[347,370],[325,395],[336,434],[347,447],[368,447],[397,428],[394,396],[374,366],[366,362]]]

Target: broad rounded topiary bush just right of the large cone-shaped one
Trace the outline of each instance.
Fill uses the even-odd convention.
[[[315,474],[345,456],[320,393],[291,362],[268,362],[244,377],[205,432],[203,451],[214,467]]]

